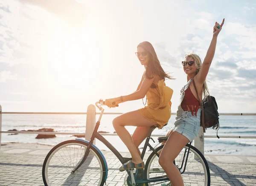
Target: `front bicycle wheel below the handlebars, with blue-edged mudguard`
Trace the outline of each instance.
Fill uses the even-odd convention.
[[[76,172],[87,149],[86,143],[77,140],[64,141],[53,147],[43,164],[45,186],[103,186],[106,166],[99,152],[90,147],[87,159]]]

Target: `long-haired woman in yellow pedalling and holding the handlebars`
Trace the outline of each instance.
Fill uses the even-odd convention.
[[[148,135],[151,126],[162,128],[171,117],[170,100],[173,90],[166,86],[165,79],[172,79],[172,77],[164,72],[150,42],[141,42],[137,46],[136,55],[141,65],[145,67],[137,90],[127,96],[106,99],[108,107],[115,107],[113,102],[119,104],[124,101],[142,99],[145,96],[147,101],[147,106],[144,108],[122,114],[113,119],[113,127],[132,157],[131,161],[119,168],[120,171],[144,168],[145,164],[140,158],[139,145]],[[137,126],[132,137],[125,126]]]

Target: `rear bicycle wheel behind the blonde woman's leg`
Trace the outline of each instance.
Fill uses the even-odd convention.
[[[162,151],[164,145],[157,147],[156,151],[158,154]],[[204,155],[193,147],[187,144],[175,158],[173,162],[175,166],[180,170],[181,176],[185,186],[210,186],[210,171],[209,166],[204,158]],[[167,182],[163,179],[168,178],[166,172],[160,166],[158,162],[158,156],[152,152],[149,155],[145,165],[145,178],[148,180],[160,179],[157,182],[148,183],[148,186],[156,185],[160,186],[162,183]],[[161,181],[162,179],[162,181]],[[169,182],[169,180],[168,180]]]

